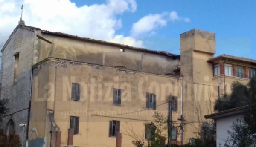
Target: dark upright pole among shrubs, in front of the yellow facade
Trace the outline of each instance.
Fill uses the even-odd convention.
[[[168,99],[168,142],[167,142],[167,147],[171,147],[172,146],[172,95],[169,95],[169,99]]]

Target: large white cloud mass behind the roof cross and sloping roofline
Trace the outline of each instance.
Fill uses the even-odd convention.
[[[20,18],[26,25],[52,32],[143,46],[142,41],[116,34],[122,27],[119,15],[135,12],[135,0],[106,0],[104,4],[77,7],[70,0],[0,0],[0,42],[6,41]]]

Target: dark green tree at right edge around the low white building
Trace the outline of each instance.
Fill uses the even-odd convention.
[[[256,147],[256,77],[250,80],[246,89],[241,84],[234,86],[236,89],[232,90],[230,95],[230,100],[233,99],[230,105],[248,105],[249,109],[244,112],[243,119],[233,123],[232,130],[228,131],[230,139],[225,147]]]

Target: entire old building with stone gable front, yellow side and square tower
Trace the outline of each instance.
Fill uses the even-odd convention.
[[[167,118],[169,97],[172,142],[186,144],[211,123],[204,115],[218,95],[233,81],[247,83],[256,69],[252,59],[214,57],[215,34],[199,29],[180,35],[174,55],[21,21],[1,52],[1,98],[10,102],[1,128],[29,147],[115,147],[119,132],[122,146],[132,146],[149,138],[154,112]],[[26,124],[25,136],[19,124]]]

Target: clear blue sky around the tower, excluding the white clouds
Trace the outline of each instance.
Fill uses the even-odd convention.
[[[77,6],[105,0],[72,0]],[[137,11],[124,13],[120,34],[129,35],[132,24],[148,14],[176,11],[189,23],[171,22],[143,36],[146,48],[179,54],[180,34],[197,28],[216,35],[216,54],[256,59],[256,0],[137,0]]]

